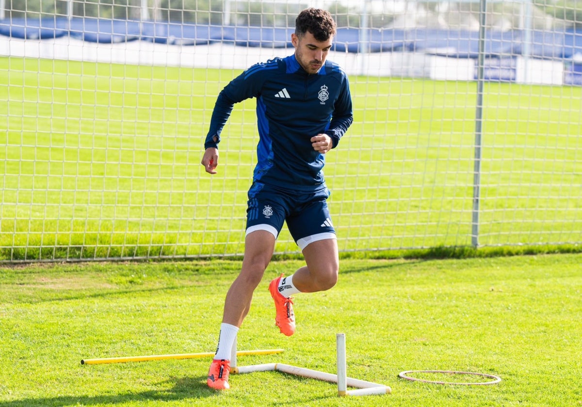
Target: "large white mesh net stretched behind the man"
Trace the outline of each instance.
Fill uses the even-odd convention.
[[[0,2],[0,260],[236,256],[258,141],[222,87],[293,52],[277,0]],[[342,252],[582,242],[582,6],[319,1],[354,123],[327,156]],[[298,251],[283,229],[277,254]]]

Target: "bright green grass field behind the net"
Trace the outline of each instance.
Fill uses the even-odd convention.
[[[238,72],[0,58],[0,259],[242,253],[254,101],[200,166]],[[354,76],[325,169],[340,250],[471,244],[475,83]],[[485,84],[480,245],[582,241],[582,88]],[[276,251],[297,252],[283,232]]]

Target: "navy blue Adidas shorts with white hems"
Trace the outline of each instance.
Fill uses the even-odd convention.
[[[329,190],[320,192],[284,192],[268,185],[254,183],[247,203],[247,231],[271,232],[275,238],[287,223],[289,233],[299,248],[318,240],[335,239],[329,216]]]

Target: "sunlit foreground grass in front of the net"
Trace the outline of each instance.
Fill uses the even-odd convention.
[[[88,263],[0,269],[0,407],[576,406],[582,404],[582,255],[463,260],[345,260],[338,285],[296,296],[297,332],[274,326],[268,281],[254,295],[240,365],[281,362],[335,372],[335,334],[350,377],[392,394],[338,398],[335,385],[282,373],[205,386],[210,360],[81,365],[81,359],[211,352],[240,263]],[[398,378],[404,370],[495,374],[489,386]],[[417,376],[429,380],[476,377]]]

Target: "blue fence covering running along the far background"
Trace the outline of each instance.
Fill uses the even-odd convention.
[[[416,51],[457,58],[477,58],[478,33],[467,30],[367,29],[363,42],[357,28],[339,28],[335,51],[399,52]],[[211,26],[110,20],[95,18],[10,19],[0,20],[0,35],[15,38],[46,39],[69,36],[83,41],[115,43],[151,41],[176,45],[208,45],[217,42],[243,47],[291,47],[293,28]],[[582,31],[530,31],[528,56],[533,58],[582,58]],[[521,55],[523,30],[488,31],[487,57]],[[576,68],[577,69],[577,68]],[[577,73],[577,70],[573,72]]]

